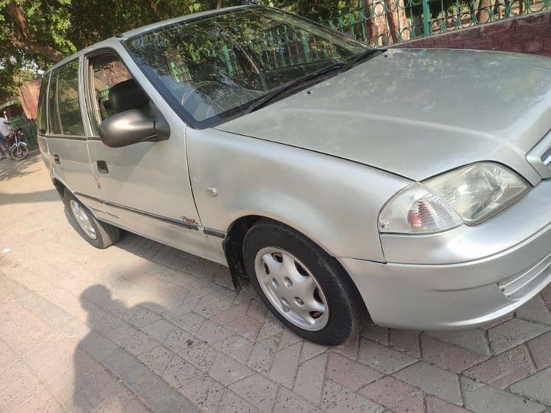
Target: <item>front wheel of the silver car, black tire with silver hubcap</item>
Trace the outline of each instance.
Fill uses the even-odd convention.
[[[262,219],[245,235],[243,258],[264,304],[304,339],[335,346],[360,330],[366,315],[360,293],[340,263],[308,237]]]

